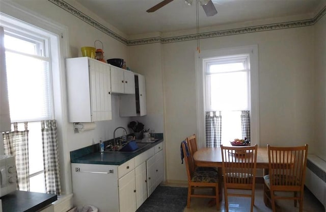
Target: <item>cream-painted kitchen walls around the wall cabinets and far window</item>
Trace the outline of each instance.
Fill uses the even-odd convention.
[[[167,179],[186,180],[185,168],[180,160],[180,142],[197,130],[196,41],[127,47],[48,1],[15,2],[66,25],[71,57],[81,56],[80,47],[93,46],[95,40],[101,40],[106,59],[124,58],[127,66],[145,75],[148,116],[137,120],[153,126],[157,133],[164,131]],[[67,2],[120,33],[86,8],[74,1]],[[227,29],[228,26],[223,28]],[[325,158],[325,31],[323,17],[315,26],[201,40],[202,50],[258,44],[261,146],[304,143],[314,146],[317,143],[315,151]],[[135,119],[119,118],[117,98],[113,96],[113,120],[99,122],[95,130],[75,134],[72,124],[67,123],[67,141],[63,141],[68,143],[63,150],[65,153],[88,146],[93,139],[111,139],[115,127],[126,126],[129,120]],[[312,150],[309,149],[310,152]],[[70,177],[70,164],[68,160],[63,163],[67,168],[67,179]],[[69,192],[69,185],[67,188]]]

